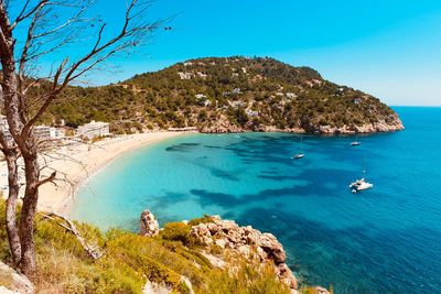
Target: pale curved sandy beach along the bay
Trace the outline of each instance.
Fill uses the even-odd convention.
[[[73,202],[75,189],[90,175],[107,163],[138,148],[178,137],[180,132],[153,132],[108,138],[93,144],[74,142],[42,155],[42,172],[49,175],[57,172],[56,185],[45,184],[40,189],[39,209],[66,213]],[[6,162],[0,166],[0,186],[7,194],[8,176]],[[23,181],[21,181],[23,182]],[[24,188],[22,188],[23,190]]]

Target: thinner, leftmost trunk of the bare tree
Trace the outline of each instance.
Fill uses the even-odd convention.
[[[21,260],[21,244],[17,226],[17,202],[19,198],[19,173],[17,168],[17,151],[7,150],[3,152],[8,164],[9,195],[6,208],[6,222],[9,248],[11,249],[12,262],[18,265]]]

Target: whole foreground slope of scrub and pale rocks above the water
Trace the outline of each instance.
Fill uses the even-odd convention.
[[[78,226],[89,233],[95,231],[87,224]],[[101,236],[95,232],[96,237]],[[140,233],[109,233],[100,242],[105,251],[98,260],[88,259],[77,239],[56,222],[39,221],[36,233],[39,240],[47,242],[39,249],[39,271],[31,279],[34,284],[0,261],[0,293],[194,294],[270,290],[269,293],[330,294],[322,287],[299,285],[286,263],[286,251],[273,235],[217,216],[170,222],[161,229],[146,210]],[[88,241],[94,239],[90,238],[88,235]],[[43,257],[47,243],[52,247]]]

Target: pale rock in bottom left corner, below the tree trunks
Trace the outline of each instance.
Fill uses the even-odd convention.
[[[34,285],[31,281],[15,272],[12,268],[0,261],[0,293],[35,293]],[[9,291],[9,292],[7,292]]]

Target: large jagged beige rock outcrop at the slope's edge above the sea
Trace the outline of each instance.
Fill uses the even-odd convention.
[[[200,224],[191,229],[191,237],[206,248],[216,246],[224,251],[239,254],[245,259],[256,254],[260,262],[272,261],[280,281],[295,290],[298,282],[286,260],[287,254],[277,238],[268,232],[260,232],[251,226],[240,227],[233,220],[223,220],[218,216],[212,217],[213,222]],[[208,258],[208,260],[212,260]],[[218,265],[216,262],[214,265]]]

